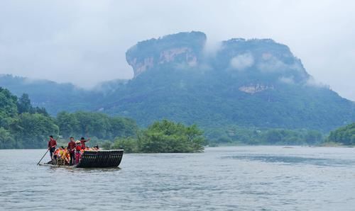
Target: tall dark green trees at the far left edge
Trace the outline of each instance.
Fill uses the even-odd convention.
[[[26,94],[17,98],[0,88],[0,149],[44,147],[48,135],[58,132],[55,120],[33,108]]]

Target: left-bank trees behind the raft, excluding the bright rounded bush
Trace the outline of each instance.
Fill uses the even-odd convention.
[[[133,120],[103,113],[62,112],[52,118],[44,108],[33,108],[27,94],[17,98],[0,88],[0,149],[45,147],[49,135],[85,136],[98,142],[129,137],[136,130]]]

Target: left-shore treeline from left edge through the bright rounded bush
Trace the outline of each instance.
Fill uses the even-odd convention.
[[[140,129],[129,118],[81,111],[52,117],[45,108],[34,108],[27,94],[17,98],[0,88],[0,149],[45,148],[50,135],[60,144],[69,137],[91,137],[88,144],[126,152],[202,152],[205,143],[197,125],[163,120]]]

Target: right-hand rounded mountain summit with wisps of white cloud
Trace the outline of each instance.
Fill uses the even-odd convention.
[[[217,69],[252,75],[254,79],[275,81],[281,78],[281,82],[300,84],[310,77],[290,48],[272,39],[233,38],[222,41],[215,61]]]

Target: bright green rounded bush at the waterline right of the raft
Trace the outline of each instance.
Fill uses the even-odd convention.
[[[116,139],[114,144],[111,144],[111,149],[145,153],[202,152],[204,149],[202,135],[197,125],[185,126],[162,120],[154,122],[136,138]]]

